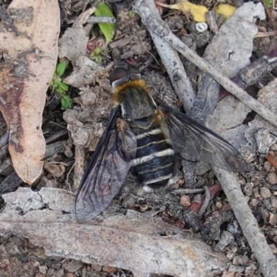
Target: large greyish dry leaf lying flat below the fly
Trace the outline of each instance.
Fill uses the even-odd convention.
[[[97,262],[130,270],[134,276],[198,277],[226,270],[228,260],[199,236],[146,213],[127,211],[91,224],[77,224],[74,197],[66,190],[19,188],[3,198],[6,207],[0,214],[0,235],[13,232],[24,236],[44,247],[47,256]]]

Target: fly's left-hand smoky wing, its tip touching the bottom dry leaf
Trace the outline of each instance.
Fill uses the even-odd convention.
[[[124,120],[120,107],[111,110],[109,122],[84,172],[75,199],[78,222],[101,213],[118,194],[136,155],[136,136]]]

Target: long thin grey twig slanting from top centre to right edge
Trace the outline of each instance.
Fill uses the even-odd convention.
[[[151,5],[151,6],[150,6]],[[193,52],[184,42],[181,42],[171,31],[170,28],[161,20],[160,17],[154,16],[154,3],[150,3],[149,0],[137,0],[134,6],[134,11],[141,15],[143,24],[152,30],[159,37],[162,37],[166,42],[168,42],[172,47],[174,47],[179,53],[184,55],[190,62],[202,69],[204,72],[211,73],[213,78],[219,82],[224,89],[233,94],[239,100],[244,102],[256,111],[257,114],[268,120],[272,125],[277,127],[277,115],[272,111],[267,109],[257,100],[253,99],[249,94],[240,89],[234,82],[226,78],[221,72],[217,71],[213,66],[208,64],[202,57],[199,57],[197,53]],[[158,13],[157,13],[158,15]],[[165,54],[163,54],[165,55]]]

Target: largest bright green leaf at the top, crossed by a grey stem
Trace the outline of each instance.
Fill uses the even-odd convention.
[[[111,9],[107,4],[103,2],[99,2],[96,11],[94,12],[96,17],[114,17],[111,12]],[[116,30],[116,24],[109,24],[109,23],[98,23],[101,32],[105,35],[106,44],[105,47],[111,42],[111,39],[114,37],[114,33]]]

